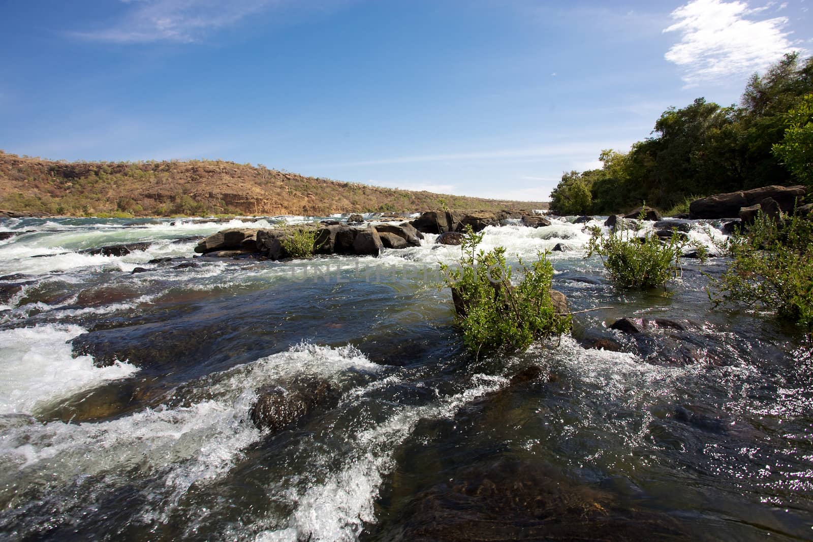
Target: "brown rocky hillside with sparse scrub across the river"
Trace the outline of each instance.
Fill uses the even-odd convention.
[[[511,202],[386,189],[306,177],[262,165],[55,162],[0,151],[0,209],[53,215],[330,215],[339,212],[545,209]]]

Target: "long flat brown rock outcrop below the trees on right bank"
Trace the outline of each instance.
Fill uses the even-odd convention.
[[[694,200],[689,204],[692,219],[728,219],[740,215],[743,207],[759,206],[771,198],[785,213],[793,211],[797,200],[805,196],[804,186],[763,186],[759,189],[715,194]],[[771,205],[771,204],[769,204]]]

